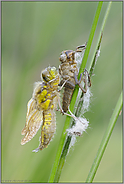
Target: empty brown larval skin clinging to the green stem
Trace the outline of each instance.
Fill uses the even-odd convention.
[[[86,48],[86,44],[78,46],[76,48],[76,51],[65,50],[61,52],[61,55],[59,57],[59,60],[61,62],[61,64],[59,65],[59,74],[61,75],[61,81],[59,84],[59,86],[61,86],[60,90],[64,87],[63,102],[62,102],[62,109],[63,109],[62,113],[63,114],[69,110],[69,105],[70,105],[70,101],[72,98],[72,94],[73,94],[75,85],[76,84],[79,85],[83,93],[86,93],[87,87],[91,86],[90,76],[86,69],[80,75],[80,79],[79,80],[77,79],[77,76],[78,76],[77,64],[78,63],[75,59],[75,55],[77,52],[82,52],[85,48]],[[83,79],[82,79],[82,75],[83,75]],[[82,80],[85,84],[85,88],[83,88],[81,85]]]

